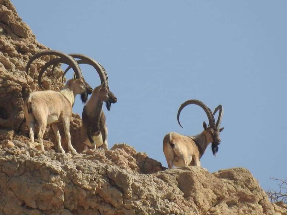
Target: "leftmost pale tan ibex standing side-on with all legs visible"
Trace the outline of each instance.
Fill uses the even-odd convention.
[[[39,73],[38,84],[43,89],[41,84],[41,78],[46,68],[55,62],[65,63],[72,67],[74,70],[74,78],[67,81],[66,85],[60,92],[53,90],[45,90],[30,93],[29,97],[25,101],[24,114],[29,127],[29,136],[32,142],[34,142],[34,128],[36,122],[39,124],[38,139],[40,142],[41,150],[44,151],[43,135],[48,124],[52,125],[52,129],[56,135],[58,142],[58,150],[60,153],[65,153],[61,145],[61,137],[58,130],[57,122],[61,118],[64,126],[65,136],[68,142],[68,150],[72,154],[77,154],[77,151],[71,144],[70,135],[70,118],[72,115],[72,106],[74,105],[75,96],[77,94],[91,93],[91,87],[85,82],[79,65],[73,59],[73,57],[67,54],[54,51],[46,50],[35,54],[28,62],[26,66],[26,73],[30,64],[37,58],[44,55],[56,55],[60,58],[53,59],[47,62]],[[85,98],[84,98],[85,97]],[[82,101],[86,102],[87,96],[82,97]]]

